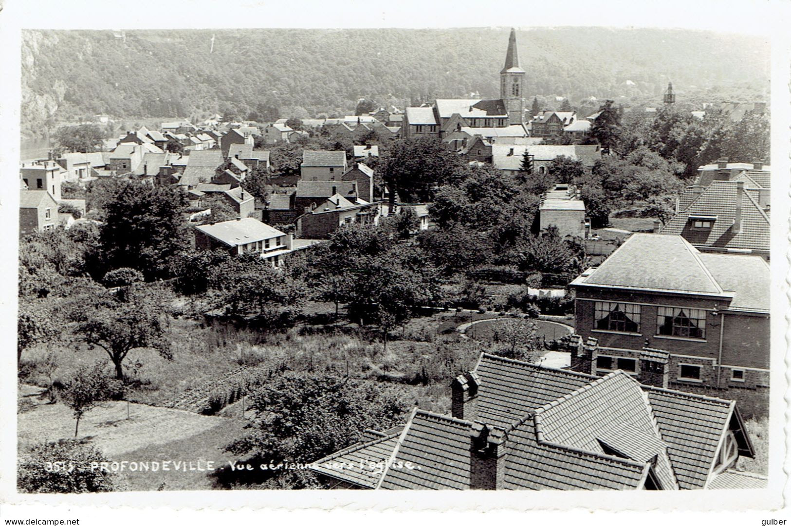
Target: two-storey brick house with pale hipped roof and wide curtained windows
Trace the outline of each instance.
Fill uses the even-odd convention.
[[[746,278],[746,277],[749,278]],[[744,414],[768,410],[770,271],[755,255],[702,253],[681,236],[634,233],[570,283],[576,331],[596,353],[572,369],[623,369],[644,384],[717,391]],[[661,366],[644,365],[661,356]]]

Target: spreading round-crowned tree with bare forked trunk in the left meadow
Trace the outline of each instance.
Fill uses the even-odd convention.
[[[117,380],[124,379],[123,361],[132,350],[151,348],[172,359],[162,323],[165,301],[158,294],[133,289],[124,301],[94,296],[85,303],[70,313],[74,338],[90,349],[104,350],[115,365]]]

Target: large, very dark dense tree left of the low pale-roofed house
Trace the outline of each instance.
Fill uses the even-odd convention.
[[[147,279],[168,278],[187,242],[187,195],[177,188],[127,181],[105,208],[100,248],[107,267],[136,268]]]

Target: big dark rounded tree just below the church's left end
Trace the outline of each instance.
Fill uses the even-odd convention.
[[[390,156],[380,167],[390,199],[428,202],[441,184],[456,184],[464,178],[464,168],[456,152],[435,137],[396,140]]]

